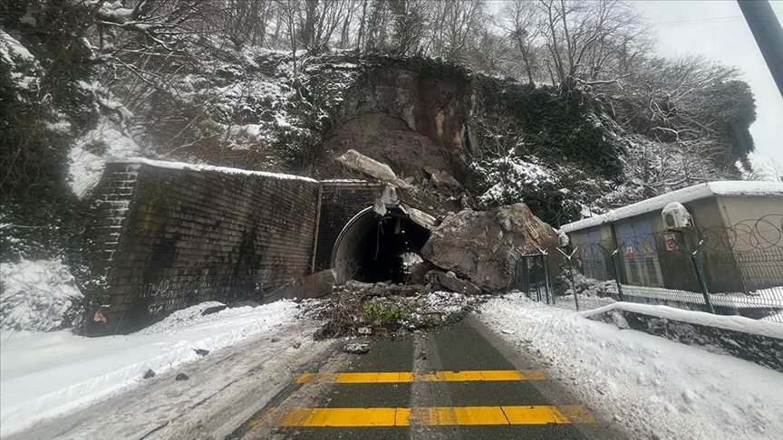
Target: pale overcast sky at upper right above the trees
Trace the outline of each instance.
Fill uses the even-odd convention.
[[[666,56],[703,53],[712,60],[739,67],[756,98],[756,122],[750,134],[756,144],[755,164],[783,162],[783,98],[761,56],[759,46],[735,0],[633,1],[658,34],[657,52]],[[771,0],[778,21],[783,0]]]

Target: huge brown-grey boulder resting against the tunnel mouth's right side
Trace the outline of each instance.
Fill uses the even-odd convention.
[[[432,229],[421,256],[484,292],[506,292],[518,252],[556,253],[557,234],[524,203],[448,215]]]

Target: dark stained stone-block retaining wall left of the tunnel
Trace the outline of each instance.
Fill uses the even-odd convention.
[[[311,273],[317,181],[157,164],[108,164],[96,191],[105,329],[201,301],[257,299]]]

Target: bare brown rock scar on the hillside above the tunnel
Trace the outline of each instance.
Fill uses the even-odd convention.
[[[328,157],[348,149],[389,164],[401,177],[430,166],[464,179],[477,156],[466,136],[469,83],[379,67],[345,92],[341,120],[326,140]]]

